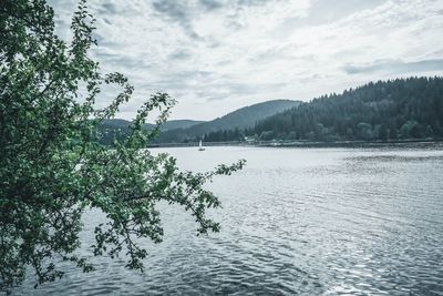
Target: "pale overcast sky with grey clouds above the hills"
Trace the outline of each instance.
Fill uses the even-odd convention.
[[[68,38],[75,0],[51,0]],[[275,99],[308,101],[369,81],[443,75],[443,0],[90,0],[105,71],[212,120]],[[102,98],[101,104],[110,98]]]

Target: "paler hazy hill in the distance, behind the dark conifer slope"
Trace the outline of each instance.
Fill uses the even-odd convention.
[[[264,120],[270,115],[277,114],[284,110],[297,106],[299,104],[299,101],[274,100],[245,106],[209,122],[199,123],[187,129],[166,131],[162,133],[158,139],[156,139],[156,142],[178,143],[187,140],[193,141],[196,137],[202,137],[206,133],[220,130],[243,130],[246,127],[251,127],[259,120]]]

